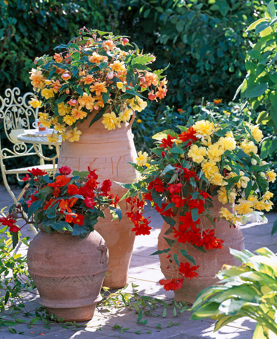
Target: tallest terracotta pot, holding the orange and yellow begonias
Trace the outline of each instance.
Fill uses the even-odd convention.
[[[88,166],[96,169],[98,182],[105,179],[112,181],[111,192],[121,198],[127,190],[114,182],[132,183],[137,178],[137,172],[127,162],[135,162],[137,157],[131,124],[121,123],[121,128],[108,131],[98,120],[89,127],[92,116],[78,124],[82,131],[79,141],[62,143],[57,168],[67,165],[77,171],[87,171]],[[133,114],[133,119],[135,114]],[[110,212],[105,211],[105,219],[99,218],[95,226],[106,240],[109,248],[109,275],[103,286],[120,288],[128,283],[128,269],[133,252],[135,233],[131,232],[132,221],[125,216],[124,201],[119,203],[122,220],[112,221]]]

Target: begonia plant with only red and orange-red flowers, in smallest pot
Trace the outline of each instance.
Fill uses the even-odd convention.
[[[43,228],[47,233],[71,232],[74,236],[84,238],[93,232],[99,217],[105,218],[109,208],[113,219],[122,217],[119,198],[109,193],[112,182],[105,179],[101,185],[97,182],[95,170],[88,167],[88,172],[73,171],[68,166],[59,168],[50,179],[45,171],[39,168],[28,170],[24,181],[28,182],[23,198],[19,203],[9,208],[9,214],[1,217],[0,222],[9,226],[13,236],[13,247],[18,243],[18,232],[26,224],[32,224],[37,229]],[[21,227],[17,219],[25,220]]]

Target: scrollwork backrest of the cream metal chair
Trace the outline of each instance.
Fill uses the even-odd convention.
[[[24,129],[30,128],[29,120],[35,120],[38,117],[38,108],[34,109],[28,104],[33,96],[31,92],[20,96],[18,87],[7,88],[5,98],[0,96],[0,119],[3,119],[7,139],[13,144],[13,149],[1,148],[2,159],[35,154],[30,153],[33,151],[33,146],[26,145],[17,139],[19,134],[24,133]]]

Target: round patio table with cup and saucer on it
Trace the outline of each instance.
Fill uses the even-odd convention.
[[[34,150],[37,153],[37,155],[46,161],[52,161],[53,166],[54,166],[54,161],[56,158],[59,158],[60,155],[60,145],[62,144],[62,136],[59,136],[59,141],[57,142],[52,142],[47,140],[47,134],[42,134],[42,135],[30,135],[27,133],[22,133],[17,136],[17,139],[19,141],[25,142],[25,143],[30,143],[33,144]],[[53,149],[54,146],[56,147],[56,155],[49,158],[45,157],[41,152],[38,147],[38,145],[48,145],[49,149]]]

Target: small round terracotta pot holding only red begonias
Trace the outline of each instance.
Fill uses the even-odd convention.
[[[70,232],[39,232],[30,242],[28,272],[36,284],[39,303],[65,321],[92,319],[108,270],[108,247],[96,231],[85,239]]]

